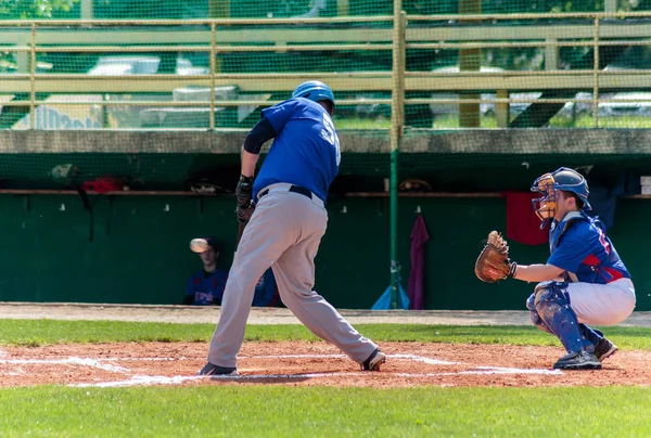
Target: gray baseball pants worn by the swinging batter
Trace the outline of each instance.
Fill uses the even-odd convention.
[[[280,298],[310,332],[357,363],[363,363],[378,348],[312,291],[315,257],[326,233],[328,212],[321,199],[290,192],[290,186],[278,183],[266,188],[268,194],[259,198],[244,229],[210,340],[208,362],[215,365],[237,366],[255,285],[269,267]]]

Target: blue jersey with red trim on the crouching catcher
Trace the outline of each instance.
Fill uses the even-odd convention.
[[[549,265],[564,269],[565,280],[575,274],[584,283],[607,284],[630,274],[620,258],[605,227],[583,211],[565,215],[561,222],[553,221],[549,229]]]

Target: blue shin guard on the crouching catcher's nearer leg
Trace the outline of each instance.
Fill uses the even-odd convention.
[[[584,348],[583,334],[576,313],[570,307],[566,288],[567,283],[564,282],[538,284],[534,291],[534,308],[541,322],[559,338],[567,352],[578,352]]]

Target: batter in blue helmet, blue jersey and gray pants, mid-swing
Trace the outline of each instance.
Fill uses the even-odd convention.
[[[219,322],[202,375],[237,374],[255,285],[271,267],[284,305],[315,335],[343,350],[362,370],[379,371],[385,355],[312,291],[315,257],[326,233],[328,189],[341,152],[330,88],[311,80],[292,99],[263,111],[242,151],[237,215],[248,221],[231,267]],[[255,179],[263,144],[275,139]]]

